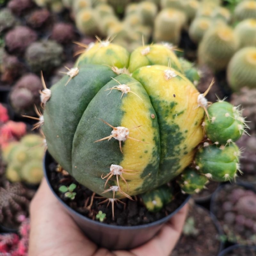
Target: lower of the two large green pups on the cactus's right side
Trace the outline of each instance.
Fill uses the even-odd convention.
[[[223,148],[212,144],[202,147],[195,156],[198,172],[214,181],[233,180],[238,169],[239,149],[235,143]]]

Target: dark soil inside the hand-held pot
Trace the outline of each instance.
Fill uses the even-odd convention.
[[[103,202],[106,200],[106,198],[95,195],[93,197],[92,205],[90,206],[93,194],[91,190],[79,184],[72,176],[66,173],[66,171],[57,172],[57,163],[54,161],[52,161],[49,166],[46,166],[46,168],[49,169],[48,177],[52,188],[62,201],[64,201],[75,211],[92,220],[96,220],[95,216],[99,211],[106,213],[106,219],[104,220],[104,223],[107,224],[119,226],[148,224],[150,222],[160,220],[174,212],[188,197],[188,195],[182,194],[180,187],[176,184],[176,182],[173,182],[172,185],[174,186],[174,191],[177,192],[174,195],[173,201],[167,204],[161,211],[156,213],[148,212],[148,210],[143,205],[140,196],[133,196],[133,201],[125,198],[122,199],[123,203],[115,203],[115,217],[114,220],[112,220],[111,204],[108,205],[108,202]],[[74,190],[74,192],[76,192],[74,200],[70,200],[59,191],[59,187],[61,185],[69,186],[71,183],[75,183],[77,185],[76,189]]]

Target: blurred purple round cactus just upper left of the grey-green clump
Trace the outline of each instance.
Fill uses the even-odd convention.
[[[35,42],[37,34],[26,26],[17,26],[5,35],[5,44],[9,52],[22,53],[28,45]]]

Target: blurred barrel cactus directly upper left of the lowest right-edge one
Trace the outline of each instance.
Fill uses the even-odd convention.
[[[206,64],[214,71],[224,70],[236,52],[238,44],[238,39],[231,27],[223,22],[214,23],[199,44],[199,64]]]

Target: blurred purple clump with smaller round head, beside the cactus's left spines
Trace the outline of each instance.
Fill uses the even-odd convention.
[[[25,74],[12,87],[9,99],[16,113],[35,114],[34,104],[39,105],[39,91],[43,89],[41,79],[33,73]]]

